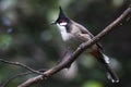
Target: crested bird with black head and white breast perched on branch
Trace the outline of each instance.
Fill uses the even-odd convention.
[[[59,7],[59,16],[52,24],[57,25],[63,42],[71,50],[75,50],[81,44],[92,40],[94,37],[94,35],[83,25],[69,18],[63,13],[61,7]],[[110,79],[112,83],[119,82],[116,72],[109,66],[109,58],[104,53],[104,49],[100,44],[97,42],[91,46],[88,49],[86,49],[86,51],[96,58],[98,62],[100,62],[102,66],[107,73],[108,79]]]

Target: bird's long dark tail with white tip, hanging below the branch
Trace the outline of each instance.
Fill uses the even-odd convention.
[[[104,65],[106,72],[107,72],[107,77],[111,79],[112,83],[118,83],[119,78],[115,71],[109,66],[109,58],[105,55],[104,53],[99,53],[100,55],[98,57],[98,61],[102,62]]]

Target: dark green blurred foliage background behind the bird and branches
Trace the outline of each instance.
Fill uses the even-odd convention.
[[[35,70],[56,65],[64,50],[56,26],[59,5],[72,20],[97,35],[116,20],[130,0],[0,0],[0,59],[21,62]],[[131,87],[131,20],[128,18],[100,40],[111,58],[120,83],[112,84],[105,72],[88,55],[31,87]],[[0,84],[25,69],[0,62]],[[16,87],[35,74],[21,76],[7,87]]]

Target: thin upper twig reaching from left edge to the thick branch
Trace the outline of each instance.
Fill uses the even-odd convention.
[[[5,64],[11,64],[11,65],[17,65],[17,66],[24,67],[24,69],[26,69],[26,70],[28,70],[33,73],[36,73],[36,74],[40,74],[40,75],[43,74],[38,71],[35,71],[35,70],[31,69],[29,66],[27,66],[25,64],[20,63],[20,62],[11,62],[11,61],[7,61],[7,60],[3,60],[3,59],[0,59],[0,62],[5,63]]]

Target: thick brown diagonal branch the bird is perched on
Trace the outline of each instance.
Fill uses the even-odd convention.
[[[19,85],[17,87],[28,87],[29,85],[41,80],[45,77],[49,77],[57,72],[61,71],[62,69],[67,67],[70,65],[73,61],[78,59],[78,57],[84,52],[88,47],[92,45],[96,44],[98,40],[100,40],[105,35],[107,35],[112,28],[115,28],[117,25],[122,23],[122,21],[131,13],[131,4],[130,7],[112,23],[110,23],[107,27],[104,28],[103,32],[100,32],[97,36],[95,36],[92,40],[82,44],[73,53],[72,55],[67,57],[68,60],[64,60],[60,62],[58,65],[53,66],[52,69],[44,72],[44,75],[38,75],[36,77],[29,78],[23,84]]]

